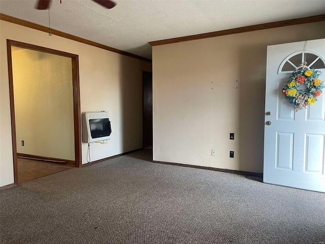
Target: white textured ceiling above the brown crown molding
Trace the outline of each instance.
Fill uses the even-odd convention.
[[[321,0],[115,0],[105,9],[91,0],[52,0],[51,28],[151,58],[150,41],[325,13]],[[36,0],[0,0],[0,12],[48,26]]]

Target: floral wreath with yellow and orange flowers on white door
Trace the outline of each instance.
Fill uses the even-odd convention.
[[[307,105],[313,105],[322,93],[321,89],[325,87],[324,82],[318,79],[321,74],[315,69],[309,70],[304,63],[302,70],[296,70],[290,76],[288,84],[283,87],[282,93],[289,103],[296,107],[296,112],[299,109],[307,108]],[[307,85],[307,90],[299,89],[299,85]]]

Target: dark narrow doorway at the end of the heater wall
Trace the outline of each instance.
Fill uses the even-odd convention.
[[[142,72],[143,147],[152,146],[152,73]]]

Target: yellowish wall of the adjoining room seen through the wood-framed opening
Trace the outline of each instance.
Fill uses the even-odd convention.
[[[75,160],[71,58],[12,50],[17,153]]]

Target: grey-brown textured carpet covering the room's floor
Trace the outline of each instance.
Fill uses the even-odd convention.
[[[325,242],[325,194],[151,163],[150,152],[2,191],[0,242]]]

